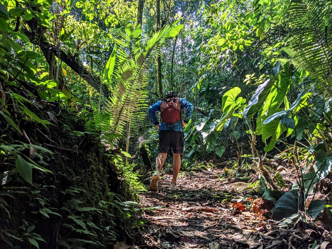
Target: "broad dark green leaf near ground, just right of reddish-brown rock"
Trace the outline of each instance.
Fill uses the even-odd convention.
[[[272,217],[276,220],[297,216],[298,189],[292,189],[283,195],[273,208]]]

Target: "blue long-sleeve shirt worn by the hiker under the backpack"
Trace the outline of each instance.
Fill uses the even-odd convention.
[[[191,115],[193,113],[193,105],[185,99],[181,99],[181,98],[178,98],[178,99],[180,100],[180,103],[181,103],[181,111],[183,109],[186,110],[186,116],[183,119],[183,122],[188,124],[188,122],[191,118]],[[161,105],[161,100],[159,100],[157,103],[155,103],[149,107],[149,116],[154,125],[159,124],[159,121],[156,117],[156,112],[160,112],[160,105]],[[159,130],[174,130],[174,131],[183,132],[183,125],[181,123],[181,120],[176,123],[165,123],[165,122],[161,121]]]

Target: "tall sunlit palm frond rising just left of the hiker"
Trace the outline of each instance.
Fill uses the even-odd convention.
[[[132,38],[126,39],[126,41],[131,41],[131,46],[124,47],[117,53],[121,67],[117,66],[114,69],[117,84],[112,90],[112,96],[107,103],[107,112],[112,113],[113,116],[110,127],[112,133],[128,137],[132,127],[143,121],[145,113],[142,110],[147,107],[145,104],[147,91],[143,89],[148,84],[146,72],[149,64],[147,58],[152,49],[156,53],[160,53],[162,44],[167,39],[175,37],[182,27],[183,25],[176,25],[176,23],[167,25],[155,33],[143,46],[138,41],[138,32],[135,32],[137,28],[134,30],[131,25],[126,27],[125,31],[128,37],[132,34]],[[141,32],[140,27],[138,28]],[[137,41],[132,42],[136,38]],[[124,44],[126,43],[122,45]]]

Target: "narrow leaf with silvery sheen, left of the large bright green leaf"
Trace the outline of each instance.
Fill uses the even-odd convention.
[[[255,113],[262,107],[265,99],[269,95],[270,89],[275,82],[275,79],[268,79],[264,83],[260,84],[256,89],[256,92],[251,97],[248,106],[244,109],[243,115],[247,119],[251,119]]]

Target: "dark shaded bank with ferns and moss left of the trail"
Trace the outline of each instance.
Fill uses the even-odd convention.
[[[135,176],[74,113],[62,110],[55,124],[47,112],[60,110],[45,104],[33,110],[53,123],[44,126],[8,110],[23,117],[23,135],[0,117],[0,248],[109,248],[141,226]]]

